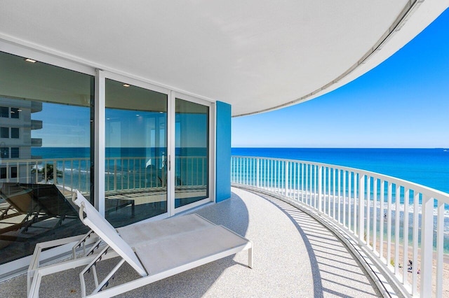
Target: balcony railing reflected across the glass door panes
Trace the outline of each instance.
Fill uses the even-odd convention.
[[[176,157],[175,186],[207,185],[207,157]],[[165,187],[167,171],[162,157],[109,157],[105,160],[105,192],[142,191]],[[2,159],[0,182],[55,183],[65,190],[90,192],[91,159]]]

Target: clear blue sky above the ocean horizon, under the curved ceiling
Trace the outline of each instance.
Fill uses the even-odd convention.
[[[364,76],[232,119],[232,147],[449,148],[449,10]]]

